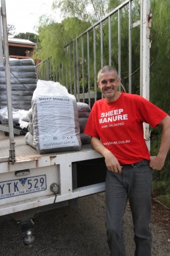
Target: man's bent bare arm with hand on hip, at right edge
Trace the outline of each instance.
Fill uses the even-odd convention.
[[[165,116],[159,125],[162,126],[161,144],[157,155],[150,157],[150,167],[154,170],[162,169],[170,148],[170,116]]]

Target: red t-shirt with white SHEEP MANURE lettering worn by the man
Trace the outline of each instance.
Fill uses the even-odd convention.
[[[100,138],[120,164],[136,163],[150,160],[143,122],[154,128],[165,116],[163,110],[143,97],[121,93],[113,103],[105,99],[94,103],[84,133]]]

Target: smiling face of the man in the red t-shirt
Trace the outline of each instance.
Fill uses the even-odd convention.
[[[116,77],[115,71],[99,74],[98,87],[103,93],[107,102],[117,100],[117,88],[119,86],[119,77]]]

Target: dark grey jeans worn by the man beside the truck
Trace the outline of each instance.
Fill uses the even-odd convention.
[[[111,256],[125,256],[123,215],[130,204],[134,225],[135,256],[150,256],[152,169],[149,161],[123,165],[122,173],[107,171],[105,181],[106,231]]]

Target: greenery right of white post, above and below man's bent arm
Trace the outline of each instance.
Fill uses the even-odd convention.
[[[170,2],[152,0],[153,10],[150,50],[150,101],[170,114]],[[156,155],[160,143],[161,128],[152,131],[151,154]],[[157,200],[170,207],[170,152],[162,171],[153,172],[153,191]]]

